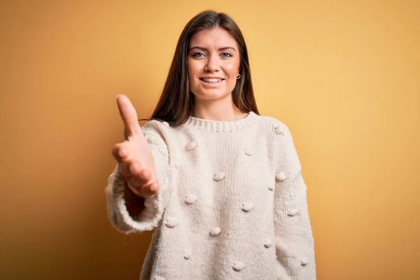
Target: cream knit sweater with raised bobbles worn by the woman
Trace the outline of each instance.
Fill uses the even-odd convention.
[[[180,127],[152,120],[143,131],[160,193],[133,218],[116,171],[106,187],[115,228],[156,228],[141,279],[316,279],[307,187],[286,125],[250,112]]]

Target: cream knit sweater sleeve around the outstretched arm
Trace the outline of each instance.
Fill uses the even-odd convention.
[[[160,127],[157,121],[148,122],[142,127],[144,136],[151,147],[160,190],[155,197],[144,200],[145,208],[139,216],[132,217],[127,211],[127,202],[124,199],[124,188],[127,188],[127,182],[118,175],[118,165],[109,176],[105,188],[108,218],[111,225],[120,232],[128,234],[153,230],[158,225],[169,202],[172,172],[169,167],[167,144]]]

